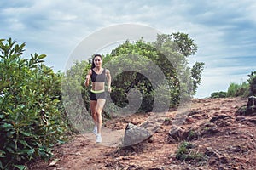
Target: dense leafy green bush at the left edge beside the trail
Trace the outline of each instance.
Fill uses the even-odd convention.
[[[44,54],[22,59],[24,47],[0,40],[0,169],[24,169],[26,161],[49,158],[67,129],[61,74],[44,65]]]

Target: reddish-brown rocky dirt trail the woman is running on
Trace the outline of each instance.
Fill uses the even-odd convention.
[[[79,134],[55,146],[49,161],[32,162],[32,170],[256,169],[256,116],[236,111],[247,99],[193,99],[182,124],[177,111],[133,114],[104,122],[102,143],[93,133]],[[152,136],[122,147],[132,123]]]

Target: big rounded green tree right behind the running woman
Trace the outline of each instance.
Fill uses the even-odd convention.
[[[156,67],[160,68],[160,71],[165,76],[164,78],[169,88],[167,89],[168,92],[162,95],[169,96],[169,99],[165,99],[167,101],[170,100],[171,103],[169,106],[173,107],[179,104],[181,96],[184,99],[189,99],[189,97],[195,94],[196,88],[201,82],[201,72],[203,71],[204,64],[196,62],[193,68],[190,69],[187,60],[187,57],[190,54],[195,54],[196,50],[197,46],[194,41],[187,34],[178,32],[172,35],[157,35],[156,41],[152,43],[143,42],[143,38],[133,43],[126,41],[118,48],[113,49],[111,54],[107,56],[113,60],[124,60],[126,58],[127,63],[137,66],[140,65],[140,67],[144,65],[139,64],[142,59],[132,59],[131,55],[139,55],[151,60]],[[131,59],[129,60],[129,58]],[[108,59],[110,63],[112,59]],[[117,61],[115,62],[118,65]],[[121,65],[121,67],[124,68],[125,65]],[[158,74],[152,68],[152,74],[154,73]],[[159,80],[160,77],[155,77],[155,79]],[[140,88],[138,88],[137,84],[140,85]],[[126,71],[113,81],[113,86],[117,90],[115,91],[116,94],[113,92],[114,102],[119,103],[119,105],[127,105],[128,101],[125,93],[131,88],[137,88],[144,93],[142,94],[143,108],[141,110],[152,110],[155,91],[152,84],[150,85],[148,79],[142,74],[138,74],[136,71]],[[125,91],[122,91],[124,89]],[[115,99],[115,96],[122,96],[122,99]]]

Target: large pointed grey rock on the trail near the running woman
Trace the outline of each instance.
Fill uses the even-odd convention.
[[[124,146],[138,144],[151,136],[152,134],[147,129],[128,123],[125,128]]]

